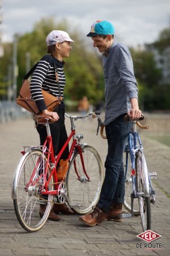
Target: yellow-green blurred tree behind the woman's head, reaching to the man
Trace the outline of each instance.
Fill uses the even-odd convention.
[[[66,100],[80,100],[86,95],[90,102],[94,103],[98,97],[103,97],[103,88],[99,87],[102,79],[101,61],[95,53],[88,52],[84,40],[80,38],[80,33],[70,32],[65,20],[55,24],[53,19],[41,19],[40,22],[35,24],[31,33],[18,38],[18,84],[21,84],[25,75],[25,53],[30,53],[31,65],[35,64],[46,54],[46,36],[54,29],[69,32],[71,38],[75,41],[72,44],[73,50],[70,57],[65,59]]]

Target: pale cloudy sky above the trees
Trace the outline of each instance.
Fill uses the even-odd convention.
[[[2,42],[11,42],[15,33],[31,32],[35,22],[46,17],[58,21],[67,18],[84,38],[93,22],[108,20],[115,28],[117,42],[134,47],[154,42],[159,32],[170,25],[169,0],[0,0],[0,3]]]

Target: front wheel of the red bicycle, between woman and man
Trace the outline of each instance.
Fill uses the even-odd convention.
[[[95,148],[82,148],[83,162],[87,179],[83,171],[80,154],[75,151],[66,176],[68,204],[75,213],[86,214],[92,210],[100,196],[103,183],[103,166]]]

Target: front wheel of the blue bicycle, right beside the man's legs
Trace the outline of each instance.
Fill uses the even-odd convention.
[[[128,148],[126,148],[128,150]],[[131,158],[129,152],[124,152],[123,155],[123,162],[124,162],[124,172],[126,170],[126,164],[128,164],[127,172],[125,172],[125,200],[124,200],[124,207],[128,212],[131,213],[131,193],[133,193],[133,177],[131,175]],[[134,191],[135,192],[135,191]],[[135,216],[140,215],[138,199],[134,198],[133,201],[133,214]]]

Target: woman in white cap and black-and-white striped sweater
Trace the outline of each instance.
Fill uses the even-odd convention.
[[[63,98],[63,90],[65,87],[65,74],[63,72],[63,58],[69,57],[72,49],[70,43],[74,42],[69,34],[61,30],[53,30],[46,38],[48,55],[42,57],[33,72],[31,79],[31,96],[35,100],[37,107],[42,114],[48,115],[54,119],[54,123],[50,124],[50,131],[52,134],[54,155],[57,155],[61,150],[63,144],[67,140],[67,133],[65,128],[65,104],[63,101],[58,105],[57,109],[49,112],[46,108],[44,97],[41,89],[57,96],[59,98],[59,90],[56,81],[55,68],[57,68],[59,87],[61,89],[61,96]],[[37,131],[40,135],[40,143],[44,144],[46,139],[46,127],[42,125],[37,126]],[[67,159],[69,154],[69,147],[63,152],[61,159]],[[45,212],[45,207],[40,205],[40,216]],[[64,214],[73,214],[72,210],[66,204],[54,204],[53,209],[49,214],[49,220],[58,221],[60,218],[57,214],[61,212]]]

